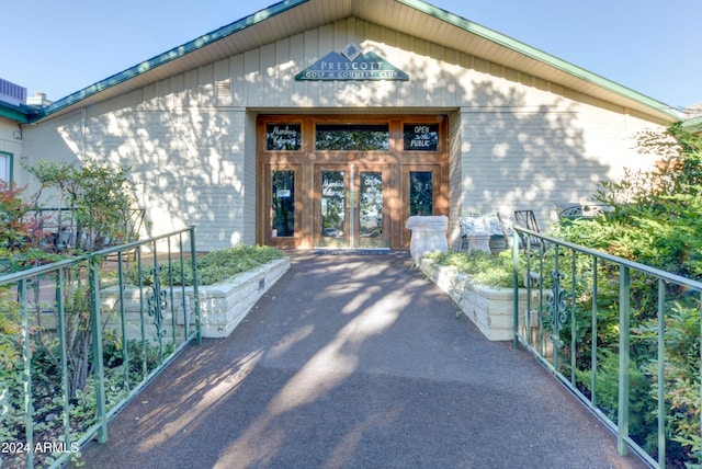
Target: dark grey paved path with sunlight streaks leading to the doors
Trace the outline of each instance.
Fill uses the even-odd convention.
[[[291,254],[225,340],[190,346],[87,468],[639,468],[525,352],[385,255]]]

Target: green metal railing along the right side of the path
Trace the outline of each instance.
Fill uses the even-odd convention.
[[[620,454],[702,462],[702,283],[520,227],[512,250],[514,346],[615,432]]]

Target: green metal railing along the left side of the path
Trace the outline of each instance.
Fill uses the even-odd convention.
[[[106,442],[112,416],[200,343],[195,252],[190,227],[0,277],[0,467],[58,467]]]

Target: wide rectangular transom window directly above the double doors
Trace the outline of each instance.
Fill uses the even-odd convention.
[[[387,124],[318,124],[315,135],[317,150],[387,151]]]

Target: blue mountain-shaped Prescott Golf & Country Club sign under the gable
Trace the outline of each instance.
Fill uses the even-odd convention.
[[[296,81],[308,80],[409,80],[409,76],[375,53],[361,53],[355,44],[347,45],[341,54],[329,53],[295,76]]]

